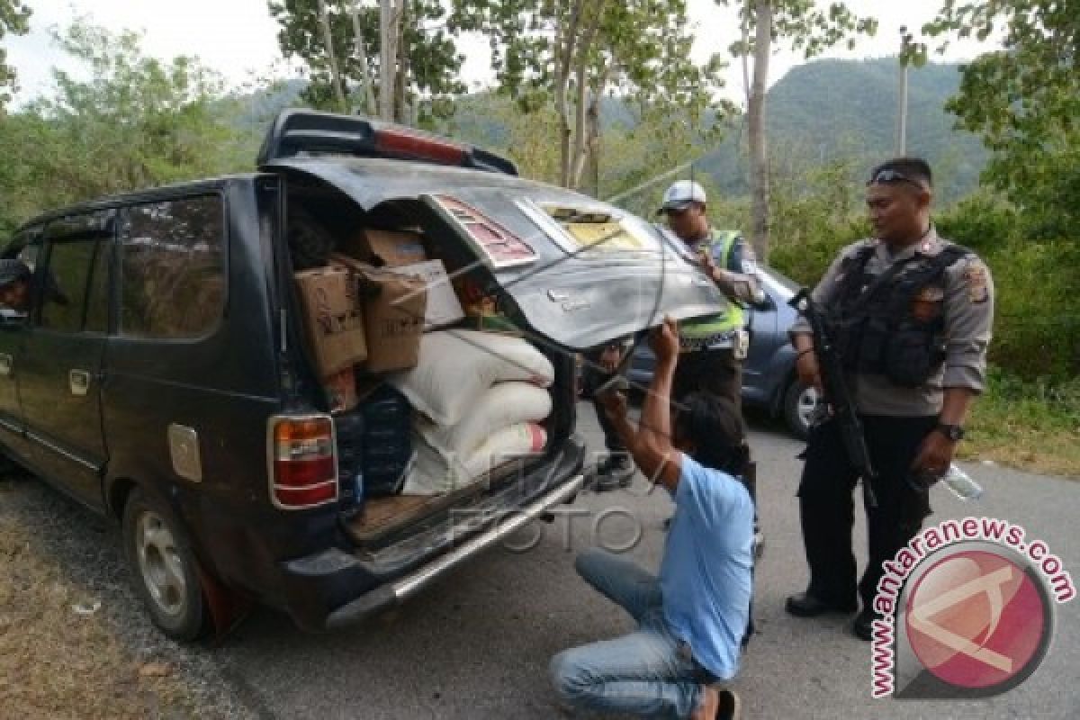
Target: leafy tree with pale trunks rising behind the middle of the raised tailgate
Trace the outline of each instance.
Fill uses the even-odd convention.
[[[605,95],[698,124],[721,84],[718,56],[690,59],[685,0],[454,0],[451,26],[490,37],[499,92],[526,112],[554,109],[565,187],[597,162]]]

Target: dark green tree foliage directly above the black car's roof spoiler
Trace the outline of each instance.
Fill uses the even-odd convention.
[[[337,107],[330,78],[329,55],[319,24],[318,0],[270,0],[270,14],[281,30],[278,42],[286,57],[300,57],[310,68],[311,84],[305,90],[305,99],[315,108],[349,111]],[[379,9],[356,0],[326,0],[330,37],[337,66],[348,83],[351,107],[364,107],[360,56],[355,52],[355,33],[351,11],[356,6],[362,28],[367,66],[375,79],[381,78],[379,66],[381,39],[379,37]],[[402,25],[406,51],[408,84],[407,100],[421,104],[420,119],[445,118],[453,111],[454,96],[465,92],[458,78],[463,56],[457,52],[455,32],[446,25],[446,10],[438,0],[406,0],[405,22]],[[377,84],[377,82],[376,82]]]

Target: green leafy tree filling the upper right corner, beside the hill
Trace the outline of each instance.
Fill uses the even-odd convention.
[[[962,127],[982,136],[994,153],[984,178],[1008,193],[1034,231],[1075,236],[1080,223],[1080,2],[946,0],[922,29],[981,40],[1003,30],[1002,50],[963,68],[960,92],[947,107]]]

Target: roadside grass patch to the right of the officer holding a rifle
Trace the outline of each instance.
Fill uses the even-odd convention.
[[[1025,382],[991,370],[989,380],[961,457],[1080,479],[1080,379]]]

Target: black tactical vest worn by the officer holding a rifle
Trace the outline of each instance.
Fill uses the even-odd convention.
[[[866,271],[875,245],[840,263],[831,323],[843,366],[883,375],[902,388],[918,388],[945,362],[945,270],[971,255],[947,245],[933,257],[913,256],[881,275]]]

